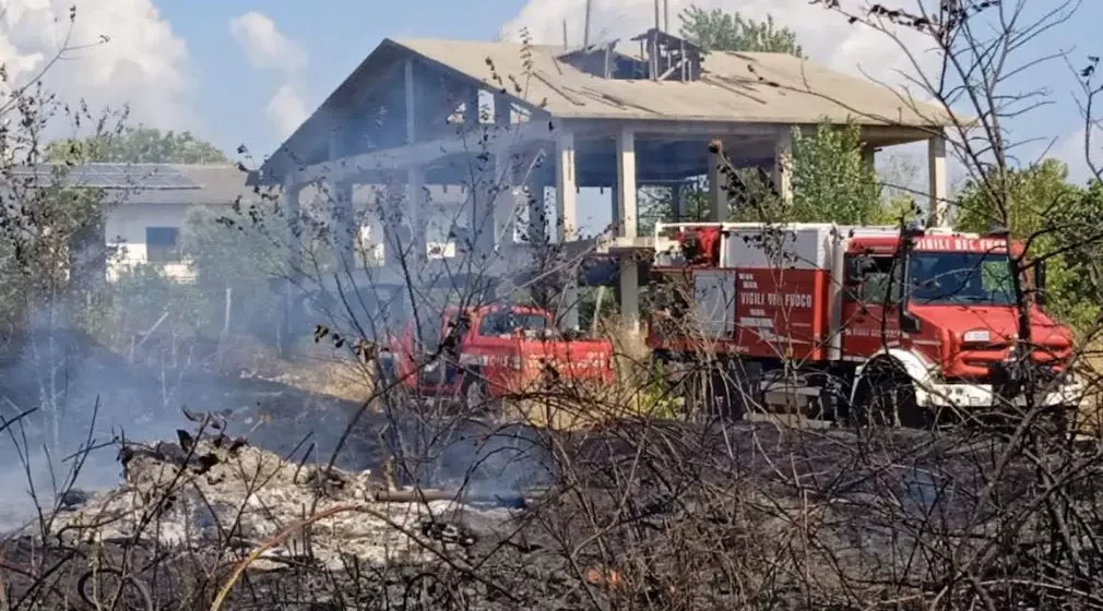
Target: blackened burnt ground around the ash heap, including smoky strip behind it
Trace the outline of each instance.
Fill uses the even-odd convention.
[[[324,463],[361,411],[275,382],[181,379],[163,401],[158,372],[89,362],[68,393],[74,406],[98,397],[107,428],[129,425],[128,437],[150,441],[194,430],[182,408],[194,416],[213,407],[228,433],[301,462]],[[11,372],[0,373],[0,385],[13,404],[36,400],[33,385]],[[1090,609],[1099,602],[1090,592],[1103,591],[1093,545],[1069,543],[1100,523],[1097,449],[1010,444],[984,431],[719,421],[553,433],[415,416],[404,399],[388,399],[382,411],[363,412],[339,468],[378,473],[401,447],[406,484],[554,489],[507,518],[468,507],[427,525],[419,540],[433,550],[428,561],[376,566],[350,556],[334,569],[289,558],[248,570],[224,609],[865,609],[870,601],[956,609],[978,592],[995,608]],[[96,425],[87,407],[68,418],[76,439]],[[116,449],[98,452],[100,467],[119,473]],[[1069,473],[1060,495],[1043,468]],[[1075,518],[1040,508],[1052,496]],[[1072,535],[1053,534],[1062,528]],[[81,586],[90,591],[95,582],[108,596],[120,572],[133,579],[116,609],[208,609],[248,551],[129,539],[74,545],[34,532],[2,543],[11,609],[97,608]]]

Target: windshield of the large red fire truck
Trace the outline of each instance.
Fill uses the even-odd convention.
[[[908,267],[909,294],[915,304],[1015,303],[1010,267],[1004,253],[914,251]]]

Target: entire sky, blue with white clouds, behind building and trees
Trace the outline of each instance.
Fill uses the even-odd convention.
[[[50,56],[60,37],[52,24],[65,21],[73,1],[12,1],[15,8],[0,19],[0,61],[9,71],[23,66],[26,73]],[[536,42],[558,43],[566,20],[569,37],[577,43],[585,1],[482,0],[461,6],[452,0],[78,0],[75,41],[87,43],[107,34],[111,42],[54,68],[50,84],[66,99],[86,97],[94,106],[128,103],[133,122],[189,129],[228,152],[245,143],[260,159],[384,37],[492,40],[526,26]],[[844,0],[844,6],[864,1]],[[885,0],[903,6],[914,1]],[[1028,13],[1038,13],[1059,0],[1025,1]],[[676,15],[690,0],[670,2],[675,22],[671,29],[676,29]],[[850,26],[807,0],[695,3],[738,10],[753,19],[772,14],[797,32],[814,61],[835,69],[892,82],[899,81],[899,68],[909,66],[882,34]],[[623,40],[651,26],[652,15],[653,0],[593,0],[592,32],[598,39]],[[1103,0],[1084,0],[1072,21],[1026,43],[1019,62],[1065,52],[1080,66],[1088,55],[1103,55],[1099,23]],[[1009,89],[1043,87],[1050,104],[1014,120],[1015,140],[1041,139],[1025,148],[1022,157],[1029,160],[1051,143],[1075,178],[1086,178],[1072,72],[1056,60],[1016,81]],[[889,150],[881,157],[907,152]],[[925,160],[913,163],[924,171]],[[588,201],[583,199],[583,205]],[[588,207],[596,213],[591,226],[608,219],[607,205]]]

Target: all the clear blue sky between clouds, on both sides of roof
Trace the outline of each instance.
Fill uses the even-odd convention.
[[[250,11],[264,13],[282,35],[306,51],[308,64],[298,79],[298,88],[307,109],[313,110],[384,37],[490,40],[523,11],[533,14],[539,10],[545,11],[547,18],[540,19],[537,13],[537,23],[528,25],[538,36],[547,36],[550,32],[559,31],[564,14],[578,14],[574,4],[579,1],[483,0],[478,3],[478,9],[459,9],[458,3],[451,0],[222,0],[210,3],[156,0],[156,6],[173,32],[188,43],[196,68],[196,108],[202,120],[202,127],[197,131],[226,149],[233,150],[238,143],[245,142],[255,153],[266,154],[278,144],[280,138],[267,120],[264,109],[279,88],[282,77],[250,66],[228,25],[237,15]],[[631,2],[632,0],[624,0],[621,3]],[[650,6],[650,1],[643,3]],[[733,0],[702,3],[730,6],[732,9],[753,4]],[[805,2],[802,0],[802,3]],[[1031,3],[1041,7],[1048,0],[1032,0]],[[597,0],[596,4],[596,29],[608,30],[610,25],[615,26],[602,26],[601,15],[611,15],[607,17],[610,20],[623,14],[614,12],[618,2]],[[775,12],[780,13],[778,20],[785,23],[786,11],[790,10],[785,0],[778,0],[774,4]],[[751,12],[750,9],[743,10]],[[650,13],[643,12],[647,14],[642,18],[647,19]],[[805,18],[801,15],[800,19]],[[550,25],[547,22],[552,22]],[[1088,2],[1073,22],[1030,43],[1031,54],[1035,54],[1035,50],[1037,54],[1063,50],[1071,52],[1074,62],[1089,54],[1103,54],[1103,41],[1093,36],[1093,24],[1101,22],[1103,2]],[[571,25],[574,28],[575,24]],[[827,60],[816,56],[815,44],[806,46],[812,47],[814,60]],[[869,71],[868,62],[861,65],[861,69]],[[1063,138],[1075,131],[1078,121],[1072,101],[1075,82],[1063,63],[1057,61],[1045,69],[1036,69],[1021,78],[1020,83],[1022,87],[1048,87],[1051,90],[1049,100],[1054,104],[1016,121],[1016,133],[1020,138]],[[1036,154],[1036,150],[1030,152]]]

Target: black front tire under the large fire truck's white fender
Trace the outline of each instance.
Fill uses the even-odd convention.
[[[858,382],[852,415],[860,427],[930,428],[930,410],[915,401],[911,377],[887,361],[870,363]]]

